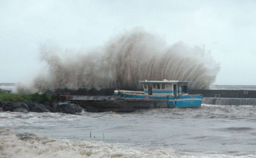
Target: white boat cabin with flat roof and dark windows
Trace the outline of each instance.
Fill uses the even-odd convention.
[[[145,95],[154,96],[180,96],[188,94],[188,84],[193,81],[139,81],[142,83]]]

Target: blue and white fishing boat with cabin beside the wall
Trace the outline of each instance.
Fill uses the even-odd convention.
[[[193,81],[139,81],[144,91],[115,90],[115,96],[126,99],[143,99],[149,101],[167,101],[169,108],[196,108],[200,107],[203,96],[201,94],[188,94],[188,84]]]

